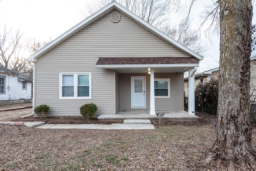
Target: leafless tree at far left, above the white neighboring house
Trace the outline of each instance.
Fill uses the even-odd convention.
[[[21,42],[22,34],[19,31],[15,35],[12,30],[7,30],[4,27],[3,32],[0,33],[0,65],[8,68],[8,64],[12,58],[18,56],[18,52],[22,49]]]

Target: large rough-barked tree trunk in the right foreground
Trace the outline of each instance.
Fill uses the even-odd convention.
[[[219,169],[256,169],[250,134],[251,0],[219,0],[220,72],[213,153]],[[248,168],[248,166],[250,168]]]

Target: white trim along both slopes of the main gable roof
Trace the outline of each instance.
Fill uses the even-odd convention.
[[[82,28],[85,28],[92,22],[98,20],[98,18],[101,18],[102,16],[106,15],[108,12],[110,12],[109,10],[114,10],[114,9],[119,10],[120,12],[126,14],[129,18],[131,18],[135,22],[140,23],[140,25],[142,27],[144,26],[144,27],[148,28],[148,30],[150,30],[153,34],[158,35],[160,38],[166,40],[173,46],[176,46],[180,50],[191,55],[192,57],[195,57],[198,60],[203,59],[202,56],[196,54],[192,50],[190,50],[190,49],[186,48],[185,46],[183,46],[182,44],[178,43],[176,40],[174,40],[174,39],[170,38],[169,36],[167,36],[166,34],[162,33],[160,30],[158,30],[155,27],[153,27],[152,25],[148,24],[146,21],[142,20],[141,18],[139,18],[138,16],[136,16],[135,14],[133,14],[132,12],[130,12],[129,10],[127,10],[126,8],[124,8],[123,6],[118,4],[117,2],[112,1],[110,4],[106,5],[102,9],[98,10],[96,13],[92,14],[91,16],[89,16],[82,22],[78,23],[76,26],[72,27],[70,30],[68,30],[67,32],[65,32],[64,34],[62,34],[61,36],[59,36],[58,38],[56,38],[55,40],[53,40],[52,42],[50,42],[49,44],[44,46],[43,48],[41,48],[40,50],[38,50],[37,52],[35,52],[31,56],[29,56],[26,59],[26,61],[36,62],[37,58],[40,58],[42,55],[44,55],[46,52],[50,51],[52,48],[54,48],[55,46],[60,44],[62,41],[66,40],[67,38],[69,38],[70,36],[72,36],[73,34],[78,32],[79,30],[81,30]]]

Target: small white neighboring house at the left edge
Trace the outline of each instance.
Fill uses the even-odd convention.
[[[30,103],[32,80],[0,66],[0,105]]]

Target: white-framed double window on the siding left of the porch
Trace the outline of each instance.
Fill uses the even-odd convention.
[[[91,99],[91,73],[60,73],[60,99]]]

